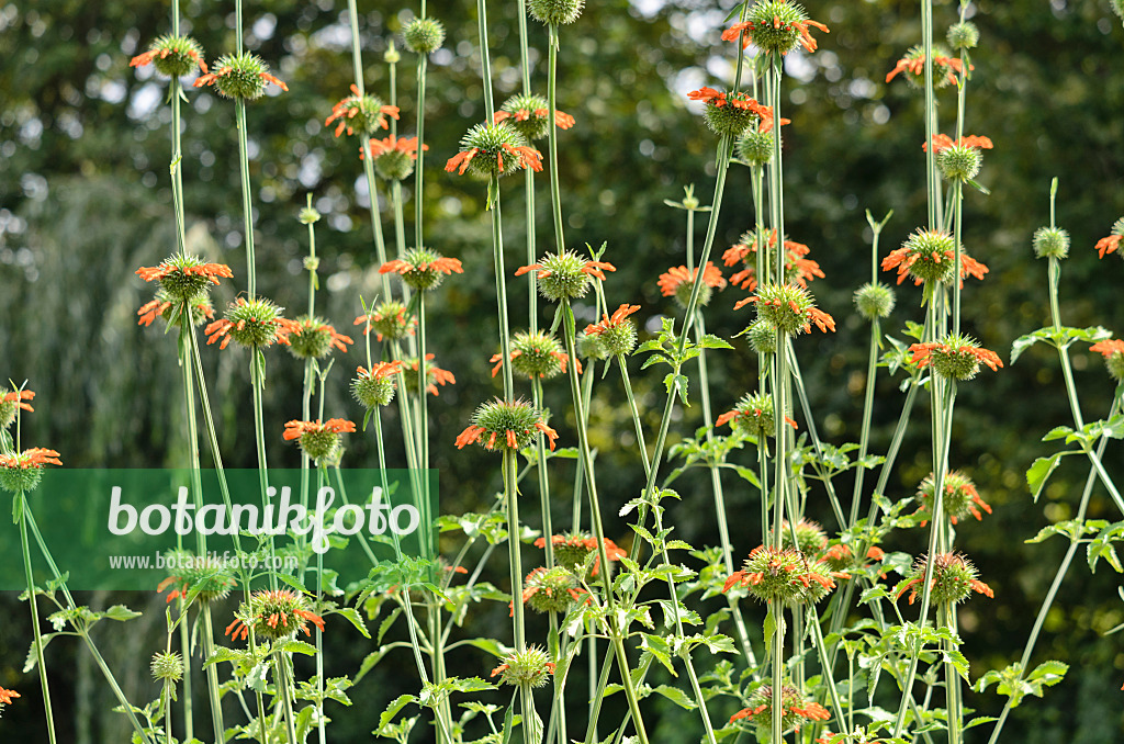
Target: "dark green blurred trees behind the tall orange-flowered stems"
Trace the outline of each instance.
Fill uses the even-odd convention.
[[[491,244],[481,183],[441,170],[465,129],[483,118],[474,3],[438,3],[448,30],[445,48],[429,64],[426,135],[425,219],[427,243],[461,258],[465,273],[435,294],[430,306],[430,347],[437,364],[456,375],[432,402],[433,466],[444,488],[443,514],[483,508],[499,488],[495,461],[478,451],[452,446],[471,410],[499,391],[488,359],[497,351]],[[916,3],[898,0],[812,2],[809,15],[832,33],[819,35],[814,55],[792,54],[787,62],[783,116],[786,225],[789,236],[812,247],[827,278],[813,284],[818,305],[835,316],[839,332],[813,335],[797,346],[814,397],[821,433],[841,444],[859,438],[868,332],[851,311],[851,293],[867,281],[870,230],[863,212],[894,217],[882,234],[882,255],[924,223],[924,161],[921,144],[923,101],[901,80],[883,82],[905,51],[921,40]],[[713,190],[715,138],[686,92],[703,84],[724,87],[732,45],[720,43],[732,0],[609,0],[593,3],[562,31],[559,107],[577,126],[560,136],[561,180],[571,246],[608,243],[607,260],[618,271],[606,284],[609,307],[643,306],[655,316],[676,315],[655,287],[660,271],[683,262],[685,212],[663,205],[696,185],[704,203]],[[134,275],[174,249],[167,178],[170,112],[167,81],[152,67],[129,69],[129,58],[170,29],[164,2],[102,0],[17,0],[0,8],[0,374],[29,381],[38,394],[36,412],[24,419],[24,442],[63,453],[69,466],[162,466],[185,462],[179,371],[171,336],[136,326],[136,308],[151,288]],[[183,31],[199,39],[212,61],[234,45],[232,3],[184,0]],[[360,26],[368,90],[390,97],[388,44],[413,17],[410,6],[360,2]],[[519,87],[516,4],[493,3],[491,54],[497,101]],[[955,20],[954,2],[937,2],[937,34]],[[1093,251],[1124,214],[1124,29],[1107,0],[980,0],[969,15],[981,30],[968,89],[967,129],[987,135],[995,149],[985,153],[979,181],[991,196],[967,194],[966,247],[990,266],[982,283],[966,289],[966,326],[982,345],[1004,359],[1013,339],[1049,321],[1045,263],[1030,248],[1034,229],[1049,223],[1048,196],[1059,176],[1058,223],[1072,236],[1072,257],[1063,264],[1062,315],[1072,326],[1104,325],[1124,333],[1121,306],[1124,266],[1115,256],[1099,262]],[[306,193],[325,219],[317,225],[321,287],[320,311],[348,333],[360,314],[360,297],[377,293],[377,266],[362,167],[355,139],[333,136],[324,119],[352,82],[346,3],[341,0],[264,0],[247,3],[246,45],[289,84],[250,106],[248,134],[255,190],[259,284],[280,305],[306,302],[301,257],[306,228],[297,221]],[[532,24],[533,80],[545,92],[546,34]],[[398,64],[399,133],[413,134],[415,57]],[[242,216],[234,135],[234,107],[209,90],[185,89],[184,188],[189,242],[197,252],[229,264],[236,279],[216,292],[217,308],[233,299],[244,278]],[[939,94],[943,130],[951,133],[954,94]],[[545,174],[538,180],[540,245],[550,247]],[[406,184],[410,193],[411,182]],[[384,194],[379,194],[384,205]],[[507,265],[526,263],[523,247],[522,179],[505,182]],[[749,172],[736,167],[726,191],[716,252],[737,242],[752,223]],[[407,203],[407,215],[413,205]],[[383,211],[388,239],[389,215]],[[408,220],[409,221],[409,220]],[[410,225],[408,224],[409,228]],[[696,224],[701,245],[705,220]],[[392,245],[392,243],[391,243]],[[716,253],[715,256],[720,256]],[[526,291],[509,283],[514,328],[525,321]],[[224,293],[225,292],[225,293]],[[749,310],[731,308],[742,294],[726,290],[707,310],[708,330],[724,336],[741,330]],[[898,309],[886,326],[898,333],[906,319],[921,320],[919,290],[898,291]],[[592,320],[592,307],[579,307],[579,321]],[[550,315],[544,309],[544,321]],[[292,315],[296,315],[294,312]],[[359,329],[356,329],[359,330]],[[359,334],[354,334],[356,339]],[[755,360],[744,343],[711,357],[713,397],[726,410],[755,384]],[[248,359],[236,350],[205,351],[211,400],[220,419],[227,465],[253,466],[253,429],[246,405]],[[328,416],[361,420],[347,379],[360,361],[352,352],[337,360],[329,383]],[[1075,354],[1087,418],[1107,412],[1112,383],[1098,355]],[[283,351],[270,353],[265,417],[277,436],[270,442],[274,464],[294,465],[297,450],[281,441],[282,423],[298,417],[301,364]],[[653,426],[662,406],[658,375],[636,375],[637,394]],[[896,381],[878,383],[873,448],[885,450],[900,410]],[[528,392],[528,391],[525,391]],[[607,516],[633,498],[641,482],[624,397],[613,378],[595,392],[593,439],[599,448],[599,480]],[[547,402],[564,410],[564,383],[547,388]],[[393,407],[389,409],[393,416]],[[927,410],[906,442],[898,475],[887,496],[913,495],[931,470]],[[701,421],[699,407],[680,411],[673,437],[690,436]],[[1016,661],[1034,614],[1064,550],[1061,539],[1025,545],[1024,539],[1072,516],[1085,480],[1077,459],[1062,465],[1039,503],[1027,492],[1024,471],[1048,445],[1039,437],[1070,423],[1057,359],[1035,347],[1009,369],[961,387],[953,432],[952,466],[969,472],[995,514],[964,525],[960,548],[970,554],[995,589],[991,601],[977,600],[961,611],[964,651],[973,673]],[[396,429],[393,420],[389,430]],[[563,441],[572,426],[556,421]],[[1124,477],[1118,446],[1106,463]],[[751,456],[747,455],[746,456]],[[402,462],[399,453],[393,461]],[[345,464],[370,464],[369,437],[351,437]],[[397,460],[396,460],[397,459]],[[556,461],[558,462],[558,461]],[[570,512],[572,469],[558,466],[556,518]],[[756,545],[756,495],[727,483],[734,545],[747,553]],[[685,477],[683,501],[670,518],[677,535],[692,544],[715,544],[707,479]],[[845,490],[845,486],[843,487]],[[49,495],[44,495],[49,499]],[[818,501],[816,500],[818,499]],[[45,507],[48,508],[48,507]],[[809,515],[834,527],[823,493],[813,491]],[[1090,518],[1120,518],[1098,492]],[[528,517],[529,518],[529,517]],[[562,521],[562,524],[566,524]],[[628,534],[615,517],[607,529],[622,543]],[[12,539],[9,527],[3,539]],[[447,550],[457,543],[448,537]],[[919,532],[888,547],[924,550]],[[697,568],[697,566],[696,566]],[[15,570],[9,566],[8,570]],[[506,568],[486,577],[506,587]],[[1007,737],[1027,743],[1103,743],[1122,732],[1121,692],[1124,651],[1120,636],[1104,636],[1124,620],[1116,596],[1118,577],[1102,564],[1096,574],[1078,561],[1045,623],[1034,663],[1059,659],[1072,665],[1066,681],[1044,701],[1016,709]],[[127,633],[101,641],[126,691],[136,701],[155,696],[147,657],[161,632],[163,599],[154,593],[125,598],[145,619]],[[87,598],[106,605],[103,596]],[[120,601],[114,598],[112,601]],[[20,668],[30,638],[26,606],[0,597],[0,686],[18,687],[24,699],[0,722],[3,741],[22,735],[39,741],[38,686]],[[233,609],[233,607],[230,608]],[[459,637],[505,627],[506,607],[473,610]],[[533,626],[534,627],[534,626]],[[348,629],[329,636],[330,674],[352,673],[371,651]],[[334,636],[334,637],[333,637]],[[477,650],[451,657],[451,672],[486,674],[491,657]],[[121,717],[112,707],[89,659],[76,645],[53,644],[48,668],[61,709],[65,741],[125,741]],[[197,675],[198,679],[198,675]],[[386,701],[416,691],[408,659],[383,661],[354,690],[357,705],[329,710],[337,741],[365,741]],[[574,689],[583,689],[579,677]],[[620,697],[620,696],[617,696]],[[610,699],[611,701],[613,699]],[[498,698],[497,698],[498,701]],[[969,695],[968,705],[997,714],[1001,699]],[[656,741],[687,742],[694,714],[653,702]],[[716,710],[714,715],[729,715]],[[977,729],[986,731],[987,727]],[[422,738],[425,732],[417,732]],[[977,738],[977,736],[972,736]]]

